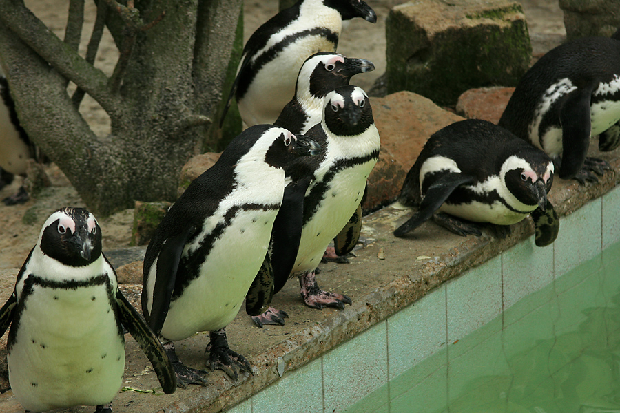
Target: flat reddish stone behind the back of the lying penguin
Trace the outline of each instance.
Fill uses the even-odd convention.
[[[469,89],[459,96],[456,112],[465,118],[488,120],[497,125],[513,92],[514,87],[500,86]]]

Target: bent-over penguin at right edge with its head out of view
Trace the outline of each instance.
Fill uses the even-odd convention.
[[[588,158],[590,136],[599,149],[620,145],[620,30],[555,47],[521,78],[499,120],[519,138],[544,150],[560,178],[597,182],[609,165]]]

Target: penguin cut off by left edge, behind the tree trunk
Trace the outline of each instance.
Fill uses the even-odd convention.
[[[2,183],[12,182],[12,175],[25,177],[30,158],[42,157],[21,127],[8,82],[0,74],[0,170],[2,171],[0,189],[4,186]],[[16,194],[3,199],[3,202],[7,205],[23,204],[28,198],[28,192],[22,186]]]

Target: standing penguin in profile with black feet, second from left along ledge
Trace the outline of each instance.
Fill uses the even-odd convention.
[[[157,227],[144,259],[142,308],[149,326],[166,341],[179,385],[206,383],[205,371],[183,366],[172,344],[201,331],[209,331],[212,370],[220,368],[235,379],[237,368],[251,371],[245,357],[229,348],[225,326],[269,260],[285,169],[298,156],[317,155],[319,149],[287,129],[249,127],[189,184]],[[265,276],[258,285],[265,287],[262,295],[251,294],[258,301],[269,301],[273,294],[273,275]]]

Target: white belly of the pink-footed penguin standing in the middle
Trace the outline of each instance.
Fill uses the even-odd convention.
[[[329,242],[340,233],[358,208],[366,188],[366,179],[375,162],[371,160],[344,169],[334,176],[318,211],[304,225],[293,274],[312,271],[318,266]]]

